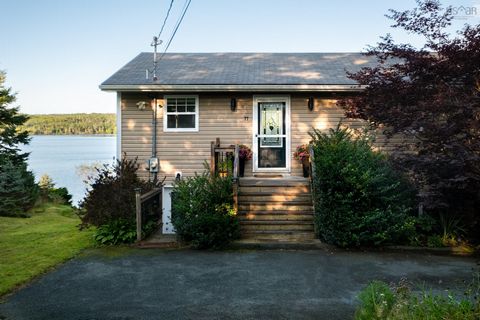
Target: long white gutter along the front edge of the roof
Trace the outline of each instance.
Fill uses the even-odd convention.
[[[216,91],[231,91],[231,92],[255,92],[255,91],[270,91],[270,92],[310,92],[310,91],[335,91],[335,92],[359,92],[365,89],[361,85],[329,85],[329,84],[205,84],[205,85],[156,85],[156,84],[140,84],[140,85],[116,85],[116,84],[102,84],[99,88],[103,91],[169,91],[169,92],[216,92]]]

